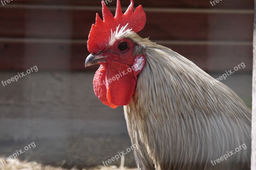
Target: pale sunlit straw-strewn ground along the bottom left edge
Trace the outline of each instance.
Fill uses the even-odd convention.
[[[1,158],[0,158],[1,159]],[[4,165],[0,163],[0,170],[67,170],[62,167],[53,167],[41,165],[37,162],[21,162],[19,159],[11,159]],[[70,170],[78,170],[76,167]],[[83,169],[83,170],[137,170],[137,168],[120,168],[117,166],[96,166],[93,168]]]

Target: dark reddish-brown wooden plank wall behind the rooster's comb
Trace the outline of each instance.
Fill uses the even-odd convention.
[[[147,14],[141,37],[192,60],[207,72],[244,62],[252,71],[253,0],[135,0]],[[130,4],[121,0],[123,11]],[[116,1],[108,4],[113,13]],[[100,0],[18,0],[0,4],[0,70],[84,68],[87,38]]]

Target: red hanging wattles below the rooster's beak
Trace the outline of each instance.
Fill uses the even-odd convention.
[[[130,102],[137,83],[132,68],[111,60],[107,63],[107,66],[100,65],[94,75],[94,93],[111,108],[125,106]]]

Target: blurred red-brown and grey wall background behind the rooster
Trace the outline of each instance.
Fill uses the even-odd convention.
[[[130,4],[121,0],[123,12]],[[222,83],[252,103],[253,0],[135,0],[147,15],[138,34],[193,61],[214,78],[244,62]],[[115,13],[116,0],[107,6]],[[0,157],[34,142],[20,160],[63,167],[102,165],[131,146],[122,107],[94,95],[99,65],[84,67],[100,0],[16,0],[0,4]],[[111,165],[120,165],[115,161]],[[135,167],[133,153],[125,166]],[[0,163],[1,166],[1,163]]]

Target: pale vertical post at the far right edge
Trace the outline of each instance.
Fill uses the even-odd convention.
[[[252,70],[252,157],[251,170],[256,170],[256,0],[254,0],[253,70]]]

